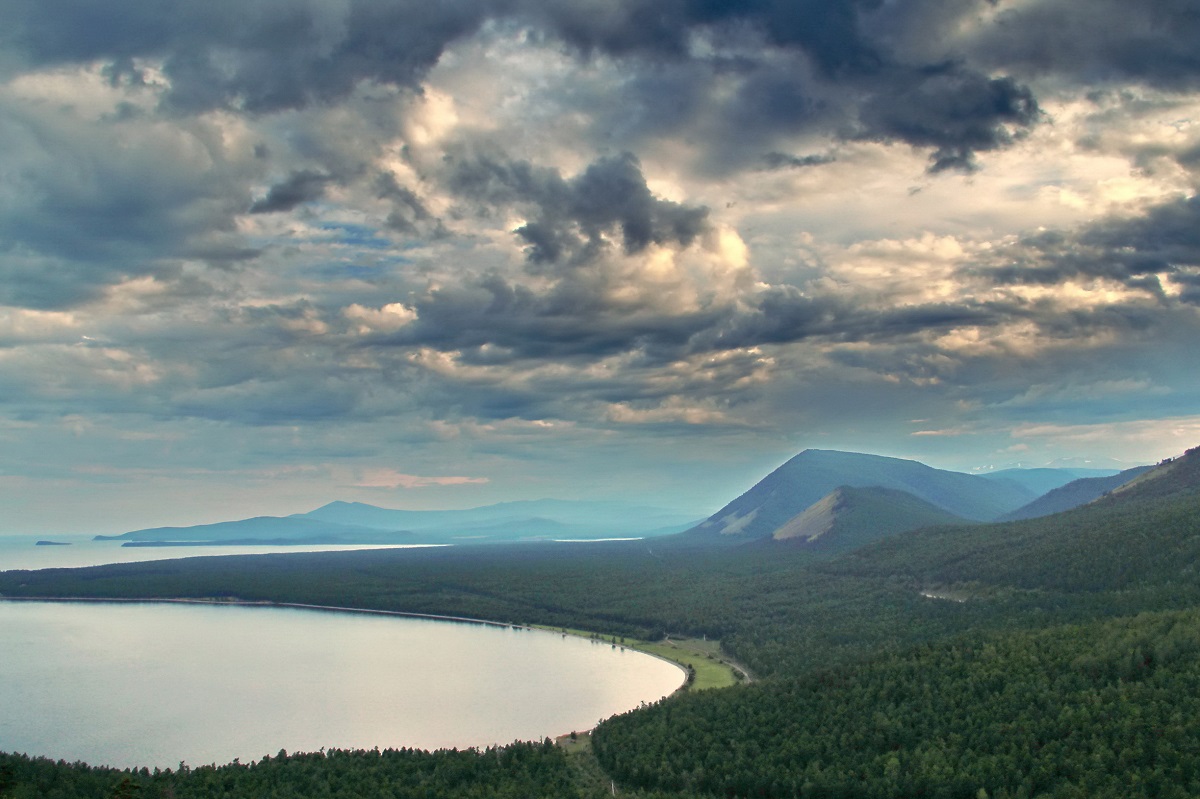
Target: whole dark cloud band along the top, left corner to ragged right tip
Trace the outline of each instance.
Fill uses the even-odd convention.
[[[740,71],[738,91],[720,102],[748,142],[810,128],[842,130],[848,120],[866,138],[932,148],[935,169],[964,168],[974,152],[1007,144],[1009,127],[1033,122],[1036,103],[1028,90],[994,74],[995,68],[947,70],[898,60],[864,23],[884,5],[882,0],[600,5],[349,0],[344,6],[322,0],[136,0],[101,13],[83,0],[49,5],[16,0],[0,10],[5,31],[0,44],[35,66],[106,62],[106,74],[116,82],[140,82],[136,59],[155,60],[169,80],[170,108],[269,113],[334,102],[362,82],[415,88],[448,46],[487,20],[499,20],[530,25],[533,32],[562,40],[583,56],[602,54],[642,67],[689,65],[702,80],[677,73],[661,91],[641,86],[655,94],[646,103],[650,114],[676,107],[676,122],[702,102],[706,92],[692,89],[730,68]],[[718,50],[740,54],[696,55],[697,37]],[[643,79],[640,73],[653,70],[631,72],[637,83]],[[683,96],[690,97],[682,108],[676,103],[679,92],[670,89],[680,82],[689,88]],[[865,103],[862,114],[858,103]]]

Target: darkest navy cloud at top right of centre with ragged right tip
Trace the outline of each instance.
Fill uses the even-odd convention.
[[[870,16],[883,6],[853,0],[630,0],[611,4],[602,14],[584,14],[569,2],[552,4],[541,14],[544,24],[586,53],[686,60],[692,35],[702,34],[721,47],[744,42],[750,31],[766,48],[802,58],[815,72],[794,59],[766,53],[743,54],[734,61],[696,60],[697,70],[739,73],[738,90],[721,113],[730,138],[751,146],[772,136],[824,128],[851,138],[931,148],[931,172],[970,170],[977,152],[1007,146],[1014,132],[1038,121],[1032,90],[995,74],[995,67],[980,70],[961,55],[947,60],[932,52],[926,53],[928,62],[899,59],[868,32]],[[943,16],[961,13],[956,6]],[[670,108],[671,100],[664,94],[660,103],[640,104]],[[728,150],[730,143],[722,142],[719,157],[727,157]]]

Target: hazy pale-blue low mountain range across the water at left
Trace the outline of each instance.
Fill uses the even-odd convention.
[[[616,501],[540,499],[448,511],[406,511],[335,501],[307,513],[194,527],[157,527],[97,541],[188,543],[455,543],[646,537],[679,533],[694,516]]]

